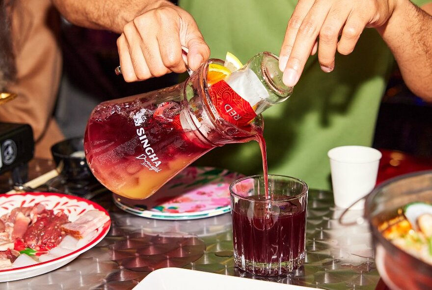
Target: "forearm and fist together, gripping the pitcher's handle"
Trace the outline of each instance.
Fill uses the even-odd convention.
[[[121,33],[117,40],[123,78],[142,81],[184,72],[182,45],[196,70],[210,56],[193,17],[168,0],[53,0],[71,23]]]

